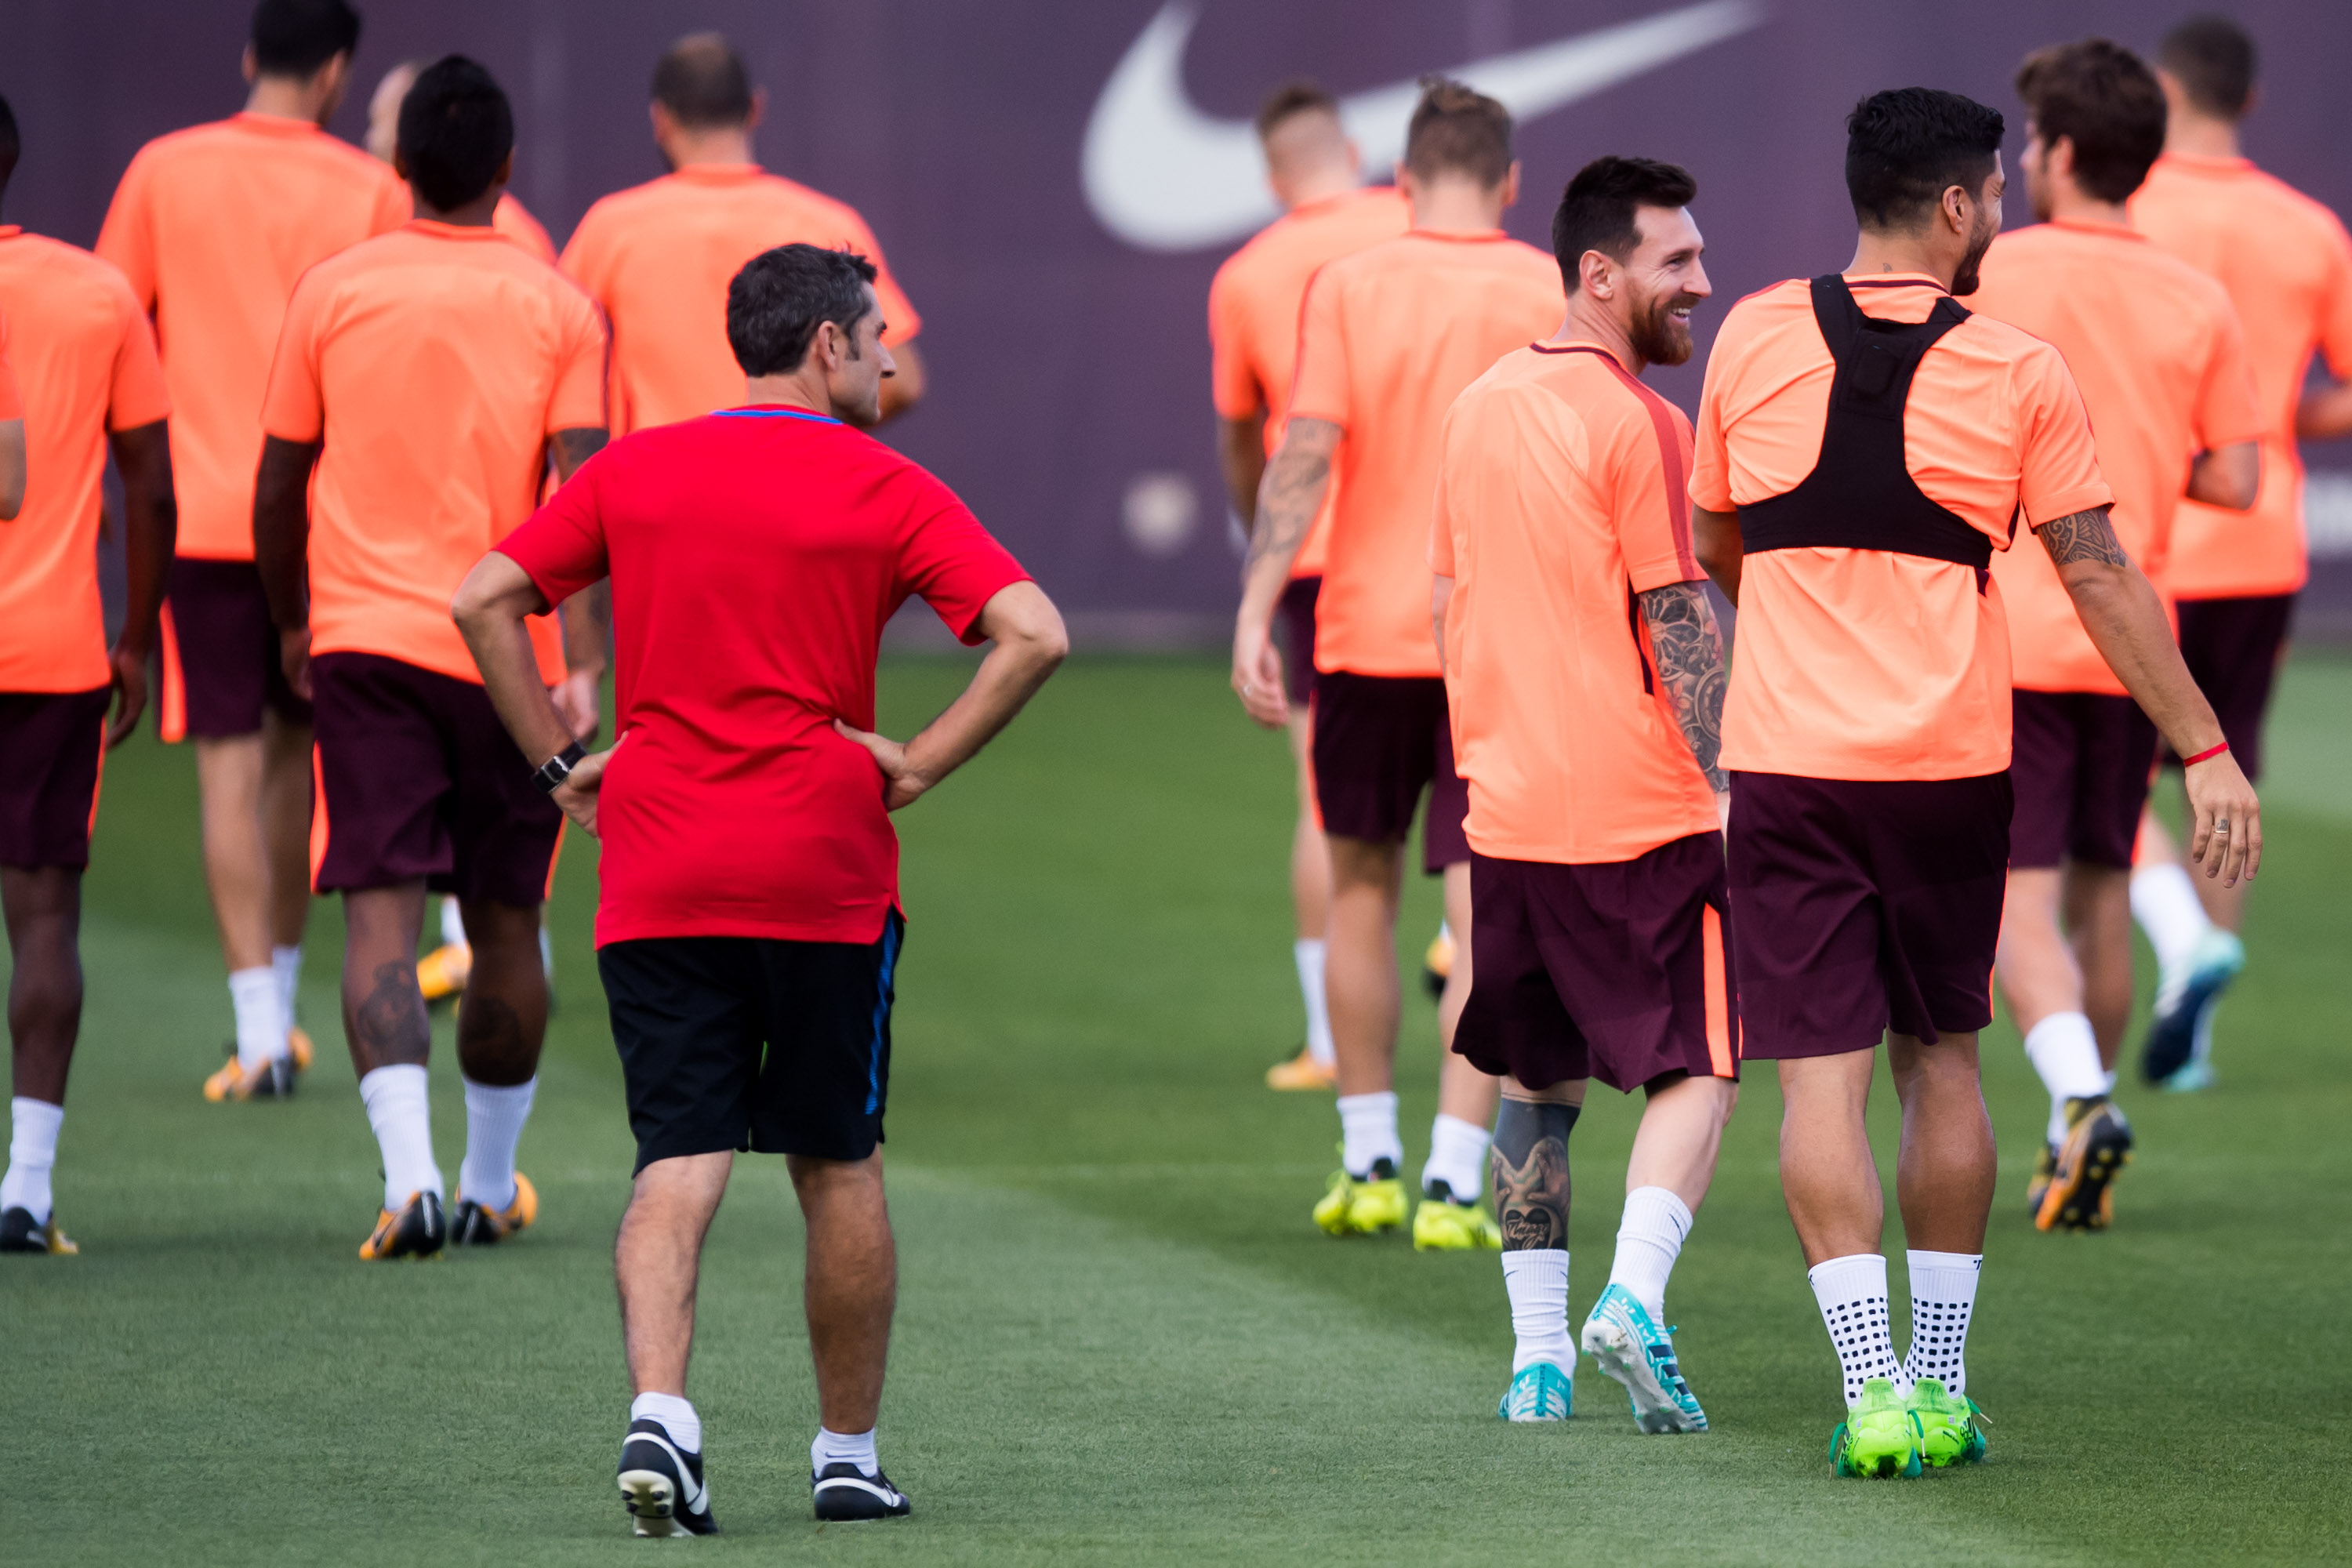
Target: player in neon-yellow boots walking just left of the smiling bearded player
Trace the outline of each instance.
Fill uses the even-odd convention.
[[[1298,324],[1289,425],[1265,470],[1232,635],[1232,686],[1265,726],[1289,722],[1272,616],[1331,498],[1315,604],[1315,802],[1331,846],[1324,994],[1338,1048],[1341,1171],[1315,1206],[1334,1237],[1404,1222],[1397,1168],[1397,898],[1423,792],[1423,865],[1444,875],[1446,922],[1470,938],[1468,806],[1454,771],[1446,684],[1430,639],[1430,501],[1444,414],[1501,355],[1559,324],[1559,266],[1503,233],[1519,195],[1510,113],[1430,80],[1397,165],[1404,237],[1324,263]],[[1496,1081],[1451,1053],[1470,994],[1456,952],[1437,1009],[1437,1121],[1414,1246],[1498,1246],[1484,1213]]]

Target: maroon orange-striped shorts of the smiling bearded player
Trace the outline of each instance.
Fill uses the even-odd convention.
[[[1740,1077],[1724,835],[1635,860],[1470,853],[1470,1001],[1454,1048],[1526,1088]]]

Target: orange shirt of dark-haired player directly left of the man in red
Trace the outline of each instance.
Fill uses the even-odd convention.
[[[310,480],[310,651],[480,684],[449,597],[532,515],[548,437],[604,423],[604,327],[494,228],[423,219],[310,268],[263,428],[325,449]],[[564,672],[555,618],[539,672]]]

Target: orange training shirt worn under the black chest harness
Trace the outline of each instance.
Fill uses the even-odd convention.
[[[1849,277],[1863,315],[1924,322],[1943,284]],[[1804,277],[1724,317],[1698,404],[1691,503],[1731,512],[1788,494],[1820,456],[1835,360]],[[2107,505],[2091,423],[2049,343],[1971,315],[1919,360],[1903,463],[1994,550],[2011,522]],[[2009,766],[2009,623],[1973,567],[1806,545],[1740,567],[1724,698],[1726,769],[1804,778],[1978,778]]]

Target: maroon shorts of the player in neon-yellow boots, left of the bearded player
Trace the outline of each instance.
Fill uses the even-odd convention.
[[[1446,684],[1435,675],[1315,675],[1315,806],[1324,832],[1402,844],[1430,792],[1421,865],[1432,877],[1470,858],[1470,785],[1454,771]]]

